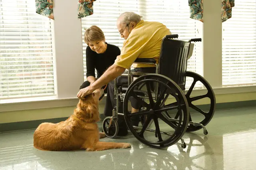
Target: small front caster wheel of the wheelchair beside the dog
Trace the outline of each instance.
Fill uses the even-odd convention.
[[[118,133],[118,124],[115,119],[112,118],[111,125],[109,127],[111,117],[106,117],[102,123],[102,129],[108,138],[115,138]]]

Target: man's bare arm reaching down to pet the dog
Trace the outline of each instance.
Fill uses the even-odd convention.
[[[80,99],[84,98],[86,95],[91,94],[97,88],[101,88],[102,86],[109,83],[111,80],[114,80],[115,78],[120,76],[124,71],[125,68],[113,64],[104,72],[104,74],[102,74],[99,79],[93,82],[90,86],[81,89],[77,93],[77,97]]]

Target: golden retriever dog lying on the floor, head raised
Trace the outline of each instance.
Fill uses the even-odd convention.
[[[66,121],[60,123],[42,123],[34,132],[34,147],[40,150],[78,150],[98,151],[116,148],[130,148],[129,143],[100,142],[105,137],[99,133],[98,104],[104,95],[103,89],[97,89],[79,100],[77,108]]]

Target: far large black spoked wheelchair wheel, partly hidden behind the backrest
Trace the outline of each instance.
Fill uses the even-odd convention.
[[[192,109],[196,110],[198,113],[203,115],[200,118],[200,122],[197,122],[197,123],[201,123],[202,125],[206,126],[210,122],[210,120],[212,119],[212,117],[214,115],[215,105],[216,105],[215,95],[212,90],[212,87],[202,76],[200,76],[197,73],[187,71],[185,76],[186,76],[186,78],[188,78],[188,77],[193,78],[193,82],[192,82],[187,94],[185,94],[188,104],[189,104],[189,107],[191,107]],[[204,95],[201,95],[201,96],[191,97],[191,93],[193,91],[193,88],[194,88],[196,82],[200,82],[201,84],[203,84],[204,87],[207,89],[207,93]],[[210,99],[210,106],[207,109],[208,111],[203,111],[202,109],[200,109],[200,108],[194,106],[194,104],[192,104],[192,102],[195,102],[197,100],[201,100],[204,98]],[[193,118],[193,113],[189,115],[189,121],[193,121],[192,118]],[[202,127],[189,124],[189,126],[187,128],[187,132],[198,131],[199,129],[202,129]]]

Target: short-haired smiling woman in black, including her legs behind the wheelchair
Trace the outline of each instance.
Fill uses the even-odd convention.
[[[80,89],[86,88],[91,83],[95,82],[109,66],[115,63],[115,59],[120,55],[121,51],[119,47],[111,45],[105,42],[105,36],[103,31],[93,25],[85,31],[84,41],[88,45],[86,48],[86,77],[87,81],[83,82]],[[95,69],[97,71],[97,78],[95,77]],[[105,88],[105,87],[103,87]],[[107,87],[108,88],[108,87]],[[104,108],[104,115],[112,115],[113,105],[108,89],[105,88],[104,93],[107,93],[106,104]],[[112,91],[112,90],[110,90]],[[119,133],[118,136],[127,135],[127,127],[123,116],[119,118]],[[109,133],[114,133],[115,128],[109,129]]]

